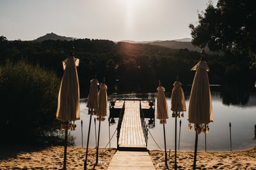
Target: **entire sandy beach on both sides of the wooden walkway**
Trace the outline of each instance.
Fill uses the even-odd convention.
[[[68,147],[67,169],[83,169],[85,148]],[[100,164],[95,169],[107,169],[116,150],[99,149]],[[96,150],[90,148],[88,169],[93,169]],[[150,157],[156,169],[166,169],[164,152],[151,150]],[[193,152],[177,152],[179,169],[192,169]],[[198,152],[198,169],[256,169],[256,147],[240,152]],[[106,164],[101,164],[105,162]],[[174,152],[168,152],[170,169],[174,167]],[[61,169],[63,165],[63,146],[33,148],[19,152],[17,148],[1,149],[0,169]]]

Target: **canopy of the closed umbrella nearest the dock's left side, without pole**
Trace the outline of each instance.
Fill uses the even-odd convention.
[[[99,108],[97,109],[96,115],[98,116],[98,120],[104,121],[108,113],[108,96],[107,96],[107,85],[105,83],[100,83],[99,90]]]

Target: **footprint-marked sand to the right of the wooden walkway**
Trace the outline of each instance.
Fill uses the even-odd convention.
[[[168,164],[174,168],[174,152],[168,152]],[[150,151],[150,157],[156,169],[166,169],[164,152]],[[194,152],[177,152],[178,169],[192,169]],[[163,164],[162,164],[163,163]],[[256,147],[239,152],[198,152],[198,169],[256,169]]]

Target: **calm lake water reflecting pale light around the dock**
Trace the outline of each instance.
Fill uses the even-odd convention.
[[[184,87],[186,97],[186,106],[189,106],[189,91],[191,87]],[[167,90],[166,90],[167,91]],[[169,90],[170,91],[170,90]],[[211,87],[212,93],[212,108],[213,108],[213,123],[209,124],[209,134],[207,134],[207,151],[230,151],[230,131],[229,122],[232,124],[232,150],[244,150],[256,146],[254,138],[254,125],[256,124],[256,92],[252,89],[237,90],[237,88],[226,87]],[[155,94],[156,95],[156,94]],[[133,94],[128,94],[131,98]],[[137,95],[136,95],[137,96]],[[148,96],[148,94],[146,94]],[[150,95],[149,95],[150,96]],[[169,108],[169,119],[167,120],[166,128],[166,147],[174,150],[174,129],[175,118],[172,118],[170,110],[170,94],[166,93],[167,103]],[[155,104],[156,105],[156,104]],[[83,147],[86,147],[88,124],[90,115],[86,103],[80,103],[81,119],[83,120]],[[108,110],[109,112],[109,110]],[[108,113],[109,115],[109,113]],[[94,119],[95,116],[93,116]],[[156,117],[156,113],[155,113]],[[180,129],[180,151],[193,151],[195,146],[195,132],[191,129],[188,132],[188,111],[184,112],[184,118],[177,118],[177,144],[179,142],[179,121],[182,125]],[[92,127],[90,132],[89,147],[95,147],[95,124],[92,119]],[[110,126],[111,136],[116,130],[118,118],[115,118],[116,124]],[[148,121],[147,121],[148,122]],[[76,137],[75,143],[77,147],[82,146],[81,139],[81,120],[76,121],[76,131],[71,133]],[[97,132],[99,122],[96,121]],[[155,127],[149,129],[153,138],[162,150],[164,150],[163,125],[159,124],[156,119]],[[109,126],[108,118],[101,123],[100,128],[100,147],[105,147],[109,141]],[[178,146],[178,145],[177,145]],[[107,146],[109,147],[109,145]],[[111,140],[111,147],[116,148],[116,134]],[[148,149],[159,149],[150,134],[148,134]],[[205,150],[205,134],[201,133],[198,136],[198,151]]]

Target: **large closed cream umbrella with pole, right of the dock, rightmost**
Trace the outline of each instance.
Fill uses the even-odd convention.
[[[209,67],[202,59],[204,57],[204,50],[201,55],[202,57],[198,64],[191,69],[195,70],[196,74],[193,80],[188,109],[189,129],[191,129],[190,124],[194,124],[194,131],[196,132],[193,169],[196,168],[198,134],[200,132],[208,132],[208,124],[213,122],[211,90],[207,74]]]

